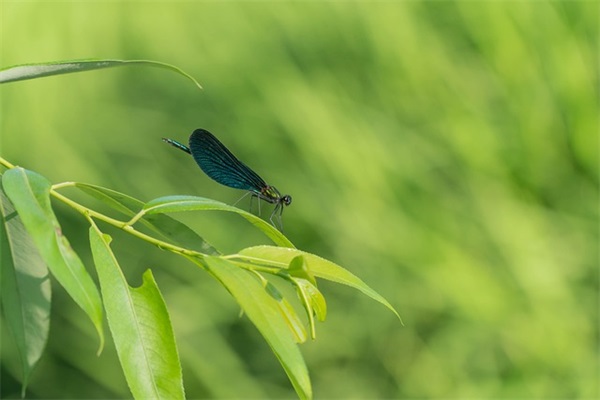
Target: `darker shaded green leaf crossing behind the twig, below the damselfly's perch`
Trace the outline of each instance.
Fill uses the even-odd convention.
[[[144,206],[144,203],[134,197],[128,196],[101,186],[86,183],[75,183],[75,187],[82,192],[102,201],[109,207],[121,212],[127,217],[133,217]],[[155,233],[163,236],[171,243],[187,249],[196,250],[204,254],[217,255],[219,252],[200,235],[187,225],[163,214],[145,215],[139,221]]]

